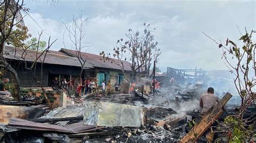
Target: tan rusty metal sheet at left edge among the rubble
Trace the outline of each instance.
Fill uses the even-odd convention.
[[[44,109],[30,108],[26,106],[0,105],[0,123],[7,124],[12,117],[21,119],[31,119],[41,116]]]

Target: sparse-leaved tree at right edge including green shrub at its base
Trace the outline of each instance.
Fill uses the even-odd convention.
[[[239,30],[239,28],[238,28]],[[239,30],[240,32],[240,30]],[[203,32],[204,33],[204,32]],[[234,41],[226,39],[226,44],[217,42],[208,35],[206,37],[213,40],[223,52],[221,59],[224,60],[230,72],[235,75],[234,85],[241,98],[240,109],[235,115],[225,117],[224,124],[220,127],[226,129],[230,142],[250,142],[255,135],[255,114],[244,119],[244,112],[254,103],[256,85],[255,77],[250,77],[250,71],[255,70],[255,41],[252,41],[255,31],[248,32],[245,28],[245,34],[241,34],[239,47]],[[255,103],[254,103],[255,106]],[[249,126],[249,127],[246,127]]]

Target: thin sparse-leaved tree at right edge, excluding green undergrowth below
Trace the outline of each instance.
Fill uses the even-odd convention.
[[[239,40],[242,41],[243,46],[240,48],[232,40],[226,40],[226,47],[222,43],[212,40],[223,51],[221,59],[224,59],[226,66],[230,69],[230,72],[235,75],[234,85],[237,88],[238,94],[241,97],[241,106],[239,116],[253,103],[255,99],[255,93],[252,91],[256,85],[256,79],[250,77],[249,73],[255,69],[255,42],[252,41],[252,37],[255,31],[247,32],[245,28],[245,34],[242,35]],[[204,33],[205,34],[205,33]],[[206,35],[206,34],[205,34]],[[206,35],[208,37],[208,35]],[[210,38],[210,37],[208,37]],[[235,62],[235,63],[234,63]]]

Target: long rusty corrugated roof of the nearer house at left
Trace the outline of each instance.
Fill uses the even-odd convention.
[[[5,46],[4,51],[5,51],[4,58],[6,59],[23,61],[22,58],[25,56],[24,50],[22,48]],[[36,60],[36,51],[27,49],[26,53],[27,53],[27,55],[25,56],[26,61],[34,62]],[[38,52],[38,56],[41,53],[42,52]],[[37,62],[42,62],[44,59],[44,55],[45,53],[43,54],[43,56],[41,56],[41,58],[38,59]],[[66,55],[55,54],[51,52],[47,53],[44,63],[81,67],[80,62],[77,58],[66,56]],[[89,63],[85,63],[85,67],[93,68]]]

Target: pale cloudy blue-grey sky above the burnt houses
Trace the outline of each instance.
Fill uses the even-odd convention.
[[[225,42],[228,37],[239,45],[238,27],[242,33],[244,27],[256,30],[255,1],[58,0],[55,4],[28,0],[25,4],[30,9],[30,16],[24,18],[29,33],[38,37],[43,29],[42,40],[48,41],[49,36],[57,39],[51,47],[55,51],[64,47],[62,21],[70,24],[73,16],[78,17],[81,12],[88,19],[84,52],[93,54],[112,52],[117,39],[126,39],[129,28],[143,31],[143,23],[149,23],[156,28],[154,34],[162,52],[157,66],[161,71],[167,67],[227,69],[218,45],[202,32],[217,41]],[[70,41],[64,41],[69,46]]]

